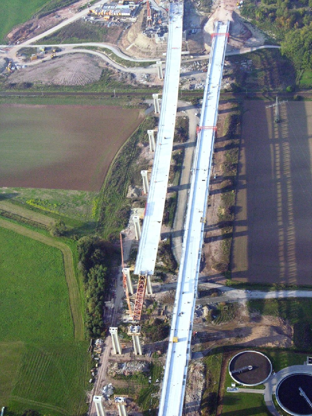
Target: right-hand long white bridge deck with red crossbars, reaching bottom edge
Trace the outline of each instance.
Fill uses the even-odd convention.
[[[216,126],[229,22],[216,22],[200,127]],[[222,34],[222,35],[221,35]],[[181,416],[191,349],[215,129],[199,129],[158,416]],[[178,342],[173,342],[173,337]]]

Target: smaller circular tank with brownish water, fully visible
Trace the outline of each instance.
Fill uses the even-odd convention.
[[[262,352],[242,351],[232,357],[228,369],[237,383],[258,386],[270,377],[272,364]]]

